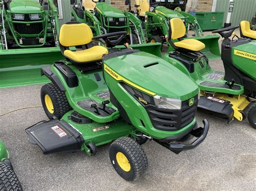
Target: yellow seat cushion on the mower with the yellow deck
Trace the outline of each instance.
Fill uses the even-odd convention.
[[[188,49],[190,51],[201,51],[205,48],[205,44],[196,39],[180,40],[177,43],[174,43],[174,45],[179,48]]]

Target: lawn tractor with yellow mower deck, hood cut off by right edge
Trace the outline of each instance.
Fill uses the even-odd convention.
[[[201,90],[198,107],[215,116],[248,121],[256,128],[256,41],[248,38],[231,40],[239,26],[215,30],[224,38],[221,44],[221,59],[225,73],[217,72],[208,65],[207,56],[201,51],[205,47],[196,39],[183,39],[185,26],[181,19],[170,21],[169,43],[174,51],[164,59],[179,68],[196,82]],[[178,39],[178,42],[174,41]],[[251,103],[248,114],[245,108]]]

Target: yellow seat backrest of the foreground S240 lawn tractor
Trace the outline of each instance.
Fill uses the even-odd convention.
[[[59,44],[64,47],[86,45],[92,41],[92,30],[84,23],[69,22],[59,31]]]

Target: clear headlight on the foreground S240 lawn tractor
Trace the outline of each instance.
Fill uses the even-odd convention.
[[[169,97],[154,96],[154,103],[156,107],[161,109],[180,110],[181,101]]]

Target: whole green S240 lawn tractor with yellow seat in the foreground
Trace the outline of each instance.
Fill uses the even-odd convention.
[[[198,86],[165,60],[139,51],[148,44],[113,48],[125,36],[122,31],[93,37],[84,23],[63,25],[59,43],[66,59],[42,68],[52,81],[41,89],[50,121],[26,133],[44,154],[80,150],[94,155],[98,146],[112,143],[114,169],[132,181],[147,168],[140,145],[154,140],[178,154],[203,142],[209,124],[204,119],[204,128],[197,127]],[[92,39],[112,48],[91,46]],[[71,46],[87,48],[72,52]],[[184,142],[191,135],[193,140]]]

